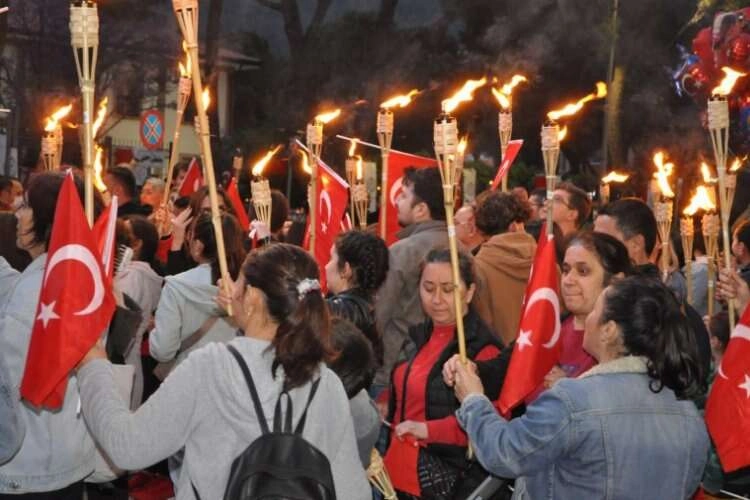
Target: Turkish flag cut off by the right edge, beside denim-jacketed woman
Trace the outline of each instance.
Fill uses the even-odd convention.
[[[724,472],[750,465],[750,307],[721,358],[706,402],[706,426]]]

